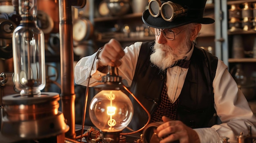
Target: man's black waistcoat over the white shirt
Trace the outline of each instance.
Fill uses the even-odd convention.
[[[154,42],[143,42],[139,52],[135,75],[130,90],[152,114],[160,103],[161,92],[166,73],[150,62],[150,54]],[[216,112],[214,109],[213,79],[216,74],[218,58],[194,46],[189,70],[180,93],[176,119],[191,128],[211,126],[209,123]],[[131,98],[134,115],[129,127],[138,130],[143,127],[148,115]]]

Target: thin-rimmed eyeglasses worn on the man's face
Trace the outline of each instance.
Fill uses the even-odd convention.
[[[160,32],[163,33],[164,37],[168,40],[174,40],[175,36],[180,34],[182,31],[184,31],[185,29],[183,29],[182,31],[180,31],[179,33],[175,34],[171,29],[159,29],[159,28],[153,28],[148,26],[148,28],[150,29],[150,31],[159,36]]]

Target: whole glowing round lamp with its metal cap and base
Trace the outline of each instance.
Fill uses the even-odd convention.
[[[132,102],[128,95],[122,92],[126,88],[121,84],[121,77],[115,74],[115,67],[108,66],[108,73],[102,77],[101,82],[104,84],[94,86],[99,93],[90,103],[90,119],[103,133],[103,143],[119,143],[121,131],[132,120]],[[128,90],[126,91],[128,93]]]

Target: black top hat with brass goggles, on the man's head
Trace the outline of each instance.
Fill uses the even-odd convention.
[[[150,0],[142,20],[146,25],[160,29],[171,29],[193,22],[212,24],[212,18],[203,18],[206,1]]]

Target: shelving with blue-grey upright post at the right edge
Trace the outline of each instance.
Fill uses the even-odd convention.
[[[240,67],[240,70],[243,70],[243,76],[246,78],[247,83],[256,83],[256,58],[252,56],[256,31],[253,29],[244,31],[243,27],[241,27],[240,31],[229,31],[230,5],[238,4],[242,13],[245,2],[254,3],[256,0],[215,0],[216,26],[219,27],[219,29],[216,29],[216,46],[218,47],[216,51],[218,52],[218,58],[228,66],[232,76],[236,73],[236,69]],[[242,19],[243,16],[241,23],[243,22]],[[237,58],[233,55],[235,35],[241,35],[244,51],[249,53],[245,54],[243,58]],[[256,84],[254,90],[256,91]],[[254,94],[254,99],[249,100],[250,106],[256,106],[254,101],[256,99],[255,93],[252,93]],[[256,112],[256,110],[253,110],[253,112]]]

